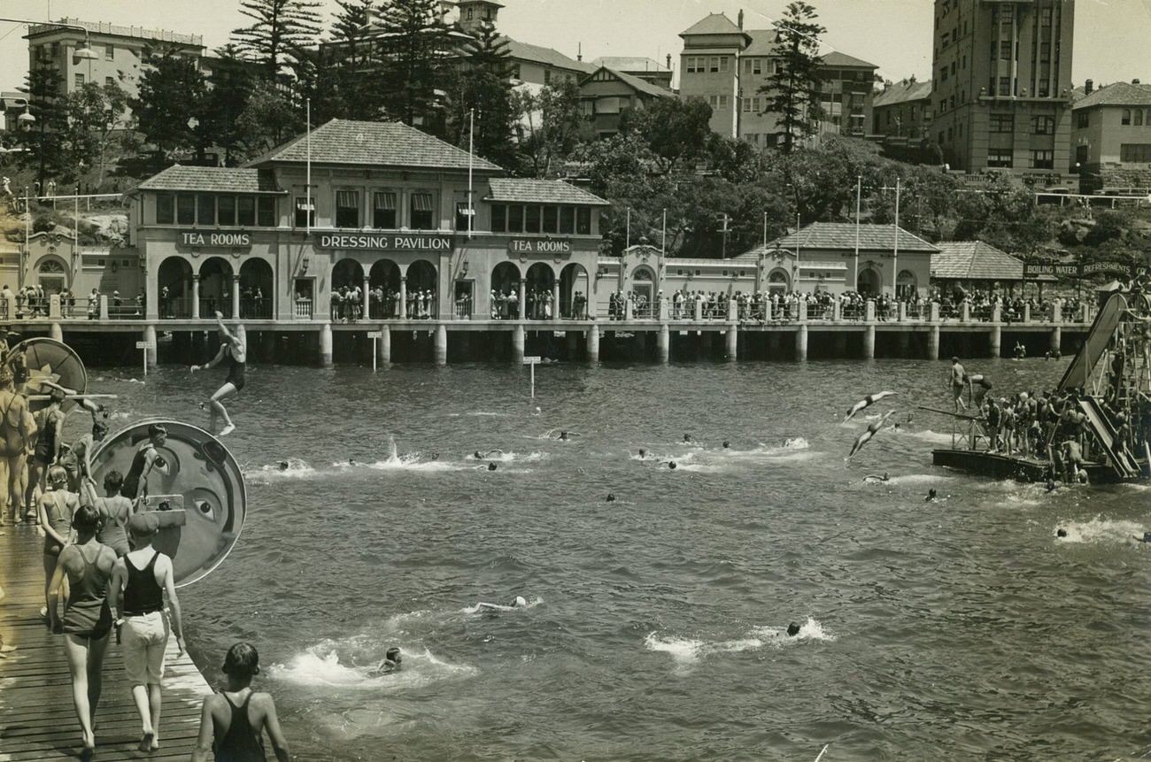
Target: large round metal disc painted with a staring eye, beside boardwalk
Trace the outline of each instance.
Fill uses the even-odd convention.
[[[142,510],[178,509],[183,503],[183,526],[165,526],[173,521],[162,521],[152,542],[171,556],[176,586],[182,587],[204,579],[231,551],[244,527],[247,497],[239,464],[220,440],[196,426],[161,418],[132,424],[100,442],[92,455],[97,485],[102,485],[104,474],[113,468],[124,475],[131,471],[153,424],[168,430],[157,450],[170,473],[154,472],[140,483],[140,492],[147,495]]]

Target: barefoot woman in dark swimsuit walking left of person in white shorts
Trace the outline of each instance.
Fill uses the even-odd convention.
[[[96,541],[100,517],[91,505],[82,505],[73,517],[76,543],[60,553],[60,562],[48,582],[48,626],[64,635],[64,655],[71,673],[73,702],[79,718],[84,750],[81,759],[90,759],[96,750],[92,717],[100,702],[104,653],[112,631],[112,611],[108,609],[108,580],[116,563],[112,548]],[[68,580],[69,594],[63,618],[56,611],[60,588]]]

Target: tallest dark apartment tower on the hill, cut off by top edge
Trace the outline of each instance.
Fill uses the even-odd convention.
[[[1074,0],[936,0],[932,131],[954,169],[1067,172]]]

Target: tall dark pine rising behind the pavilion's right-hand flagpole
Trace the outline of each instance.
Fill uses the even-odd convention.
[[[511,63],[508,40],[486,22],[465,49],[457,69],[457,98],[452,101],[451,127],[457,145],[467,147],[474,137],[474,150],[481,157],[510,167],[516,160],[512,144],[514,112],[511,90]],[[471,130],[470,113],[474,115]]]

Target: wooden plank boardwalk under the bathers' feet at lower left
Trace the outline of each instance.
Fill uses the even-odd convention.
[[[79,721],[62,635],[48,632],[39,616],[44,605],[43,539],[35,526],[0,528],[0,635],[15,647],[0,658],[0,762],[76,759],[82,749]],[[186,762],[199,732],[200,702],[212,689],[176,639],[168,641],[163,678],[160,748],[139,752],[139,715],[132,703],[115,634],[104,662],[104,692],[96,715],[98,762],[158,760]]]

